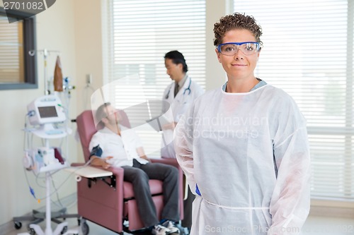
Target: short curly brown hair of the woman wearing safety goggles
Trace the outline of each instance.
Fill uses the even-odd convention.
[[[262,28],[256,23],[253,16],[246,16],[244,13],[233,13],[232,15],[223,16],[219,22],[214,24],[214,46],[222,44],[222,39],[229,30],[244,29],[249,30],[256,37],[256,41],[262,46],[261,41]]]

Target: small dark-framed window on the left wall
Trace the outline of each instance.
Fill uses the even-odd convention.
[[[35,56],[34,17],[9,23],[11,18],[24,18],[25,13],[0,8],[0,90],[38,88]]]

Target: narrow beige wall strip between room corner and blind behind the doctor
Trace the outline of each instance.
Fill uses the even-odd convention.
[[[103,85],[101,1],[75,0],[75,54],[78,114],[91,109],[92,89],[86,88],[86,75],[91,74],[93,90]]]

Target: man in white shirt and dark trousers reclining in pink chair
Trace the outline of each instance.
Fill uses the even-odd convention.
[[[180,231],[175,224],[179,220],[176,167],[150,162],[144,153],[139,136],[132,128],[119,124],[120,116],[110,103],[98,107],[95,118],[101,120],[104,128],[91,138],[89,145],[91,165],[105,169],[122,167],[124,181],[132,183],[144,226],[151,229],[152,234],[179,234]],[[156,216],[149,179],[164,182],[164,209],[161,221]]]

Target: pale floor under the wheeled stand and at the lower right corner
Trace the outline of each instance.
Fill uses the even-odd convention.
[[[69,213],[75,213],[76,206],[72,205],[72,207],[68,208]],[[77,226],[76,219],[67,219],[69,223],[69,229],[74,229]],[[87,222],[89,225],[89,234],[90,235],[116,235],[115,232],[105,229],[103,227],[98,226],[97,224],[93,224],[92,222]],[[23,226],[21,229],[13,229],[7,235],[16,235],[21,234],[27,231],[26,222],[23,222]],[[40,223],[40,226],[45,228],[45,223]],[[52,223],[52,230],[54,231],[57,227],[57,224]],[[79,231],[79,234],[82,234]],[[125,233],[128,235],[129,233]],[[136,235],[145,235],[149,234],[147,232],[134,233]],[[307,219],[307,222],[304,224],[302,228],[303,235],[354,235],[354,218],[338,218],[338,217],[319,217],[319,216],[310,216]],[[21,234],[22,235],[22,234]],[[24,235],[24,234],[23,234]],[[38,234],[37,234],[38,235]],[[202,234],[200,234],[202,235]]]

